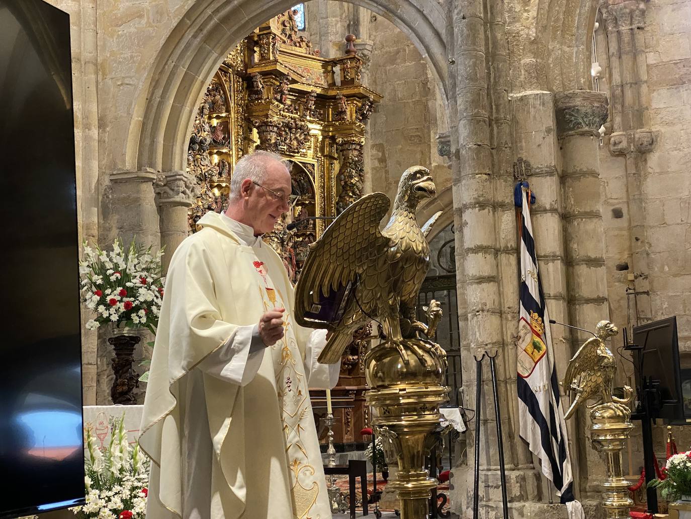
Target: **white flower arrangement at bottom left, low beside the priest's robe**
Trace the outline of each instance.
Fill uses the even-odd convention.
[[[143,519],[149,494],[149,458],[139,444],[130,448],[124,415],[113,424],[108,447],[97,447],[91,428],[86,430],[84,443],[86,504],[70,510],[80,519]]]

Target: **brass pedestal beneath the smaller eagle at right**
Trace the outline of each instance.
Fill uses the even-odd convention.
[[[590,419],[593,448],[603,457],[607,471],[607,478],[602,484],[604,517],[628,518],[634,502],[628,489],[631,483],[624,479],[621,451],[634,428],[631,412],[621,403],[609,403],[591,410]]]

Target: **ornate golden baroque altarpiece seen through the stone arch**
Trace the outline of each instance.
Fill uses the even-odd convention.
[[[283,257],[292,280],[297,279],[309,244],[330,223],[310,217],[335,217],[363,194],[366,122],[381,95],[361,82],[363,60],[354,40],[353,35],[345,38],[343,56],[321,57],[298,34],[289,10],[229,53],[209,84],[189,140],[187,169],[199,189],[189,210],[190,232],[205,212],[227,206],[241,156],[255,149],[280,154],[292,163],[296,202],[267,240]],[[287,230],[298,220],[306,221]],[[365,341],[354,340],[346,350],[339,385],[332,391],[337,443],[362,441],[359,432],[368,424],[366,347]],[[312,401],[319,409],[324,392],[313,392]]]

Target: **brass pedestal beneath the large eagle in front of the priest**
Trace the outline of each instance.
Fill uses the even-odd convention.
[[[437,486],[425,469],[425,457],[442,441],[439,405],[448,401],[443,385],[446,353],[427,340],[405,339],[408,363],[396,347],[382,343],[365,357],[372,406],[372,426],[388,440],[398,463],[397,480],[390,485],[401,500],[401,519],[427,519],[430,490]]]

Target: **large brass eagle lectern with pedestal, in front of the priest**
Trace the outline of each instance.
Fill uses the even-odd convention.
[[[401,518],[426,519],[430,489],[425,455],[441,441],[439,404],[448,401],[443,385],[446,353],[431,338],[442,317],[437,302],[426,309],[427,324],[416,319],[417,295],[429,268],[426,236],[441,212],[420,228],[417,204],[435,195],[428,170],[410,167],[398,185],[391,219],[386,194],[372,193],[346,208],[307,255],[295,291],[296,316],[307,327],[332,335],[319,356],[335,363],[355,330],[379,322],[379,345],[365,357],[372,426],[390,442],[398,479],[390,483],[401,500]]]

